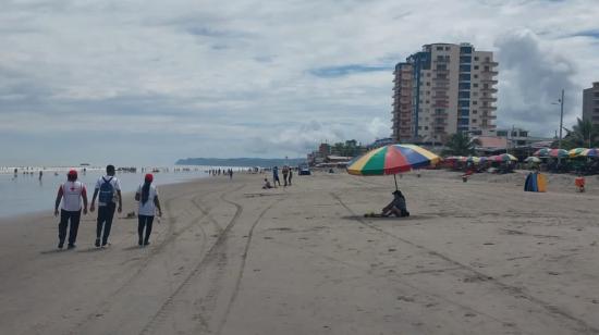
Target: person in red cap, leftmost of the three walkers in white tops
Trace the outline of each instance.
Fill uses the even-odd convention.
[[[69,249],[75,248],[77,231],[80,228],[82,199],[83,213],[87,214],[87,191],[85,189],[85,185],[77,182],[77,172],[75,170],[71,170],[69,171],[69,174],[66,174],[66,183],[60,185],[58,189],[54,204],[54,216],[58,216],[58,208],[62,202],[60,210],[60,223],[58,225],[59,249],[62,249],[64,246],[69,221],[71,221],[71,228],[69,229]]]

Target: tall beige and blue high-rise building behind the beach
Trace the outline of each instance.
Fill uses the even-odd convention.
[[[494,129],[498,63],[469,44],[425,45],[398,63],[393,139],[441,144],[457,132]]]

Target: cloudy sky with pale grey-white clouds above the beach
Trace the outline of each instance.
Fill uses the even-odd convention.
[[[390,134],[430,42],[500,62],[499,126],[549,136],[599,80],[596,0],[0,0],[0,165],[300,157]]]

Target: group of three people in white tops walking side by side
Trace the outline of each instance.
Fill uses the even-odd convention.
[[[98,216],[96,224],[97,248],[103,248],[108,245],[108,238],[114,219],[114,212],[121,213],[123,210],[123,199],[121,194],[121,183],[114,176],[113,165],[106,166],[106,175],[101,176],[94,188],[89,211],[96,210],[96,199],[98,200]],[[156,210],[158,215],[162,215],[162,209],[158,200],[158,190],[152,185],[154,176],[146,174],[144,183],[139,185],[135,193],[135,200],[138,203],[138,244],[139,246],[149,245],[149,237]],[[81,214],[87,214],[87,189],[85,185],[77,181],[77,171],[71,170],[66,174],[66,182],[60,185],[54,203],[54,215],[60,214],[59,223],[59,249],[64,247],[66,231],[69,227],[68,248],[75,248],[77,231],[81,221]],[[61,206],[62,204],[62,206]],[[60,207],[60,212],[59,212]],[[145,234],[144,234],[145,233]]]

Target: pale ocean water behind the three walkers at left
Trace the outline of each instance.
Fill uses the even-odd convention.
[[[185,166],[176,166],[161,169],[161,172],[154,173],[154,184],[157,186],[164,184],[182,183],[195,178],[207,177],[205,172],[209,167],[191,166],[190,171],[179,171]],[[237,167],[235,167],[237,169]],[[19,169],[16,177],[12,173],[13,169],[0,169],[0,223],[2,218],[44,211],[53,211],[54,199],[59,186],[66,181],[66,171],[62,167],[47,167],[44,171],[41,181],[39,181],[39,169],[30,167],[34,174],[23,174],[24,169]],[[103,169],[87,167],[86,173],[80,170],[78,181],[87,187],[87,197],[91,201],[96,181],[105,174]],[[117,173],[117,177],[121,181],[123,193],[133,191],[143,183],[145,172],[137,173]],[[58,173],[58,175],[54,175]],[[97,206],[97,204],[96,204]]]

